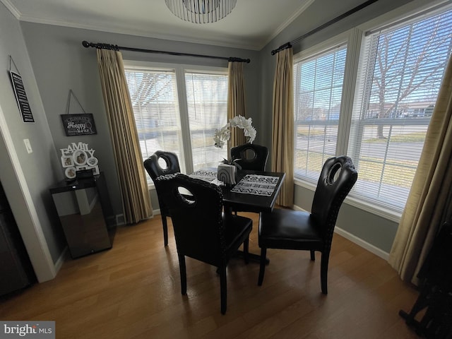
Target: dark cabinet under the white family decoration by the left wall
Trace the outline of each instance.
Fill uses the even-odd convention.
[[[72,258],[112,248],[116,222],[102,172],[93,178],[63,180],[50,193]]]

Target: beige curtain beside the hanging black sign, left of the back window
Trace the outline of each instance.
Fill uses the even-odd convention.
[[[126,224],[152,215],[143,158],[120,52],[97,49],[105,110],[121,187]]]

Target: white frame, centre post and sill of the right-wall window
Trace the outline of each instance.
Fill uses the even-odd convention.
[[[342,105],[340,109],[339,126],[338,126],[338,143],[336,145],[336,155],[347,154],[347,147],[349,143],[350,136],[350,126],[352,121],[352,109],[355,102],[355,92],[357,86],[359,85],[358,72],[360,68],[360,62],[362,61],[362,43],[364,42],[364,32],[371,30],[376,30],[377,28],[383,27],[385,25],[390,25],[394,21],[403,20],[409,18],[410,16],[415,16],[417,13],[422,13],[422,11],[429,11],[431,8],[436,6],[442,6],[442,8],[447,8],[447,6],[452,5],[452,0],[436,0],[425,4],[425,1],[415,0],[396,8],[393,11],[383,14],[373,20],[369,20],[367,23],[357,26],[345,33],[332,37],[314,47],[306,49],[294,56],[294,62],[299,61],[299,59],[304,59],[309,55],[314,55],[321,53],[331,47],[338,45],[340,43],[347,43],[347,58],[345,61],[345,73],[344,73],[344,83],[343,83],[343,96]],[[311,182],[304,181],[299,178],[295,178],[295,184],[297,186],[302,186],[306,189],[314,191],[316,185]],[[357,207],[361,210],[367,211],[374,215],[378,215],[387,220],[394,222],[399,222],[401,213],[397,213],[393,210],[388,210],[380,206],[374,206],[366,201],[358,200],[352,196],[347,196],[345,202],[350,206]]]

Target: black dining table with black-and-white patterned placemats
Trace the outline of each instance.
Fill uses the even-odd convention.
[[[218,180],[216,168],[199,169],[189,175],[220,186],[226,218],[227,215],[232,215],[234,210],[251,213],[272,212],[285,179],[283,172],[238,170],[237,183],[227,185]],[[239,251],[239,254],[242,252]],[[260,256],[249,253],[249,259],[259,262]],[[269,263],[268,258],[266,261]]]

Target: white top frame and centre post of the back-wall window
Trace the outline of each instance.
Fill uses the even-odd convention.
[[[191,173],[194,172],[193,168],[193,154],[191,152],[191,136],[189,126],[189,112],[186,99],[186,85],[185,85],[185,73],[220,73],[227,75],[227,67],[215,67],[215,66],[201,66],[191,64],[166,64],[153,61],[133,61],[124,60],[124,67],[126,69],[139,70],[162,70],[162,71],[174,71],[176,74],[177,83],[177,99],[179,100],[179,116],[182,130],[182,148],[184,153],[184,159],[179,160],[182,172]],[[213,139],[212,139],[213,144]],[[220,162],[221,159],[218,160]],[[148,183],[149,188],[153,188],[153,182]]]

